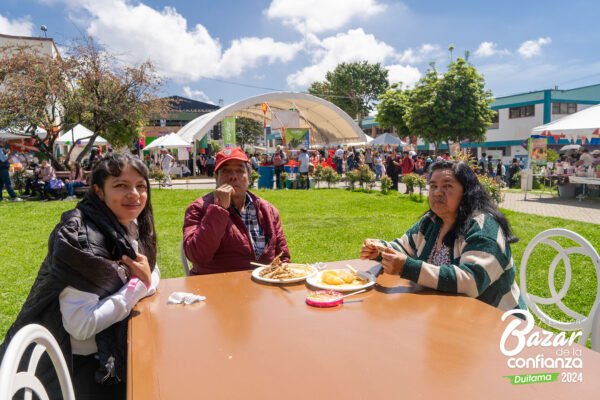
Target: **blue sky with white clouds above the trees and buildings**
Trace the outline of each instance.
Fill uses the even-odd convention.
[[[89,35],[125,64],[151,60],[160,95],[214,104],[306,91],[362,60],[411,87],[466,52],[502,97],[600,83],[598,15],[594,0],[2,0],[0,33],[45,25],[60,49]]]

